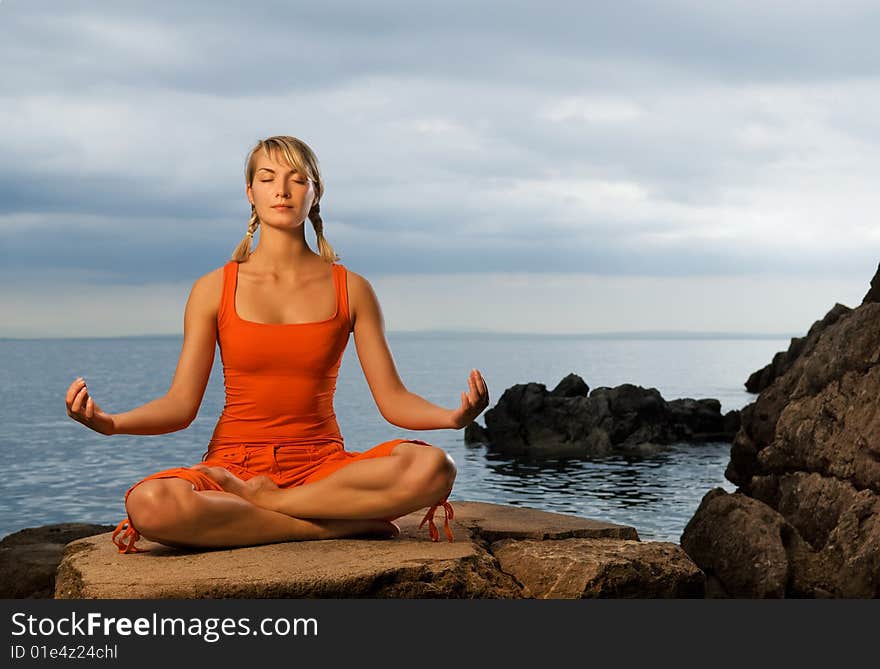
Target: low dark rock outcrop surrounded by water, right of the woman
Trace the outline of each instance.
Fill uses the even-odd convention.
[[[493,452],[542,457],[652,453],[678,442],[731,441],[739,412],[721,414],[717,399],[666,401],[656,388],[633,384],[590,391],[569,374],[551,391],[542,383],[516,384],[472,423],[465,443]]]

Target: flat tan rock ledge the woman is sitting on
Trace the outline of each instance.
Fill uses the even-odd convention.
[[[540,563],[552,563],[533,546],[552,544],[570,553],[569,563],[576,563],[584,559],[585,545],[592,541],[600,541],[603,546],[608,542],[616,546],[659,543],[642,544],[635,528],[625,525],[483,502],[452,504],[455,518],[450,526],[454,543],[445,540],[442,527],[439,542],[430,540],[427,526],[418,528],[423,511],[396,521],[401,528],[396,539],[291,541],[197,550],[142,540],[138,545],[148,552],[120,554],[110,541],[110,533],[99,534],[67,545],[56,575],[55,597],[531,598],[543,596],[544,591],[534,581],[528,585],[520,578],[526,573],[522,565],[531,560],[537,563],[532,573],[538,573]],[[442,509],[438,512],[442,514]],[[439,526],[442,517],[435,516],[435,521]],[[571,541],[581,543],[567,544]],[[520,544],[530,548],[514,560],[512,551]],[[518,566],[511,567],[509,572],[494,554],[493,546],[501,549],[505,560]],[[676,544],[663,546],[677,548]],[[602,551],[608,556],[614,553],[607,548]],[[603,554],[602,551],[595,555]],[[644,564],[650,561],[649,553],[650,550],[639,553],[636,549],[621,549],[613,562],[620,564],[629,556]],[[657,558],[656,563],[658,568],[668,565],[668,556]],[[646,575],[648,571],[639,568],[635,573]],[[675,570],[670,578],[682,578],[684,571]],[[638,579],[628,582],[638,589]],[[600,580],[595,580],[593,590],[578,593],[577,588],[556,588],[550,592],[560,596],[602,596],[597,594],[600,585]],[[656,586],[652,588],[656,591]],[[672,586],[664,590],[673,591]]]

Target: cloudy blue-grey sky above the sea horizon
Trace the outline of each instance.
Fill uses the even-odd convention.
[[[389,330],[803,334],[880,260],[878,27],[847,1],[0,0],[0,336],[182,333],[275,134],[317,153]]]

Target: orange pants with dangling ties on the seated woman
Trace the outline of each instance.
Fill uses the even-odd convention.
[[[201,464],[222,467],[243,481],[247,481],[254,476],[265,475],[271,478],[279,488],[292,488],[318,481],[352,462],[391,455],[394,447],[404,441],[413,441],[425,446],[431,445],[419,439],[392,439],[361,453],[346,451],[336,443],[321,446],[284,444],[283,442],[229,444],[210,449],[210,451],[203,455]],[[193,490],[197,491],[223,491],[223,488],[214,479],[196,469],[174,467],[150,474],[135,483],[126,491],[125,502],[128,503],[128,496],[131,494],[131,491],[141,483],[150,479],[160,478],[185,479],[192,483]],[[419,527],[425,521],[428,521],[431,540],[437,541],[439,532],[434,525],[434,511],[441,505],[445,513],[444,530],[446,537],[449,541],[453,541],[452,531],[449,528],[449,520],[453,517],[453,509],[445,497],[431,506]],[[393,518],[388,520],[393,520]],[[125,529],[126,525],[128,526],[127,529]],[[120,534],[121,536],[117,539],[117,535]],[[111,539],[120,553],[143,553],[145,552],[143,549],[135,546],[140,537],[140,532],[135,529],[131,518],[126,517],[116,526]]]

